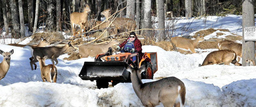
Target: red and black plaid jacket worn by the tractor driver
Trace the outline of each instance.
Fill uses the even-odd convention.
[[[123,43],[121,43],[119,45],[120,48],[122,48],[126,43],[127,41],[130,39],[130,37],[128,39],[126,39]],[[135,37],[135,40],[134,40],[134,50],[135,52],[138,52],[139,53],[139,56],[140,56],[140,59],[142,57],[142,44],[140,42],[140,40],[137,38],[137,36]]]

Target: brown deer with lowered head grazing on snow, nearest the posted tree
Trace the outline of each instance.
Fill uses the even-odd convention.
[[[212,65],[212,64],[225,64],[229,65],[230,63],[235,64],[236,66],[242,66],[242,64],[236,61],[236,52],[233,50],[216,50],[209,53],[203,64],[198,66]]]

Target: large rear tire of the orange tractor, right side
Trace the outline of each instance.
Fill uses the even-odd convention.
[[[143,64],[144,65],[144,64]],[[151,64],[147,64],[148,67],[141,73],[141,79],[153,79],[154,73]]]

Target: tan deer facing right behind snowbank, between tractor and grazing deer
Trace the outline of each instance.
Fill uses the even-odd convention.
[[[194,40],[187,39],[184,37],[172,37],[171,40],[178,49],[187,50],[192,53],[196,53],[195,48],[196,48],[197,44],[200,41],[205,41],[203,36],[204,36],[204,34],[202,36],[200,36],[200,34],[198,33],[196,39],[194,39]],[[171,45],[171,47],[172,47],[172,45]]]

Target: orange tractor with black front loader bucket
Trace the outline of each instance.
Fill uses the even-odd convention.
[[[105,54],[97,55],[94,62],[84,62],[79,77],[83,80],[96,80],[98,89],[108,88],[108,82],[111,82],[112,86],[121,82],[131,82],[131,73],[124,68],[124,63],[127,63],[138,68],[147,64],[148,68],[141,73],[141,79],[153,79],[154,73],[157,71],[156,52],[145,52],[139,61],[138,53],[120,50],[123,50],[124,53],[112,55],[112,49],[109,48]],[[136,56],[136,61],[131,60],[133,56]],[[101,57],[105,57],[105,60],[101,60]]]

